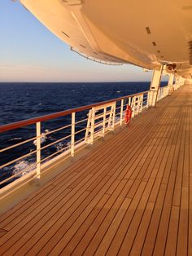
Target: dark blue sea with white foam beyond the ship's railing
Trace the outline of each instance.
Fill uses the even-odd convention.
[[[166,84],[167,82],[162,82],[161,86]],[[0,83],[0,126],[69,108],[135,94],[149,90],[149,87],[150,82]],[[80,113],[79,118],[81,118],[81,115],[85,115],[85,113]],[[57,118],[53,121],[47,121],[42,124],[41,132],[67,125],[70,122],[69,118]],[[57,135],[48,136],[44,144],[60,139],[63,135],[68,135],[68,130],[60,131]],[[4,132],[0,135],[0,148],[6,148],[13,143],[20,143],[24,139],[34,136],[34,125]],[[66,141],[65,143],[68,142]],[[64,142],[55,147],[50,147],[44,150],[42,155],[46,157],[63,146]],[[31,150],[35,150],[34,143],[30,145],[27,143],[22,147],[2,152],[0,166],[16,157],[21,157]],[[0,169],[0,181],[11,176],[16,171],[22,170],[23,167],[33,165],[34,162],[35,156],[30,156],[27,159],[15,162],[11,166],[2,168],[2,170]]]

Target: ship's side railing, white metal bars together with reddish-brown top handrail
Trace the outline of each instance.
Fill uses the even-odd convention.
[[[30,172],[30,175],[32,176],[31,179],[41,179],[41,174],[46,171],[45,166],[47,163],[50,163],[50,161],[52,162],[58,161],[60,158],[67,159],[68,157],[74,157],[76,152],[85,147],[85,145],[93,144],[95,139],[104,137],[108,132],[115,130],[118,126],[123,126],[124,111],[127,104],[132,108],[132,117],[136,117],[141,114],[144,109],[149,107],[149,95],[151,93],[154,92],[145,91],[136,95],[128,95],[122,98],[112,99],[100,104],[92,104],[81,108],[67,110],[62,113],[50,114],[44,117],[33,118],[28,121],[20,121],[11,125],[0,126],[0,132],[2,132],[36,124],[35,136],[25,139],[20,143],[15,143],[7,148],[2,148],[0,152],[5,153],[11,149],[23,147],[25,143],[31,143],[34,146],[34,141],[36,148],[28,150],[28,153],[25,153],[21,157],[11,159],[11,161],[4,163],[0,166],[0,170],[8,168],[8,166],[12,166],[18,161],[22,161],[26,159],[26,157],[36,155],[36,162],[33,166],[33,170]],[[159,88],[157,100],[163,99],[166,95],[168,95],[168,86]],[[83,115],[79,117],[78,113],[83,113]],[[66,122],[65,126],[59,127],[55,130],[48,130],[42,133],[41,124],[43,121],[52,120],[57,117],[62,117],[63,123],[68,117],[70,117],[71,122],[69,124]],[[41,140],[43,138],[58,132],[63,132],[65,136],[44,146],[42,145]],[[56,152],[46,154],[46,157],[42,157],[43,150],[63,141],[68,141],[65,147],[59,148]],[[0,186],[4,187],[11,183],[13,179],[18,180],[26,173],[28,173],[28,167],[24,168],[24,170],[18,171],[17,173],[11,174],[7,179],[3,179],[0,182]]]

